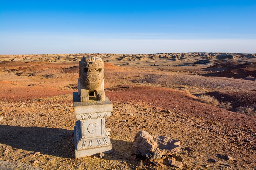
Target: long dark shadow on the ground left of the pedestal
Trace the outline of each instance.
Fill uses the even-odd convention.
[[[13,148],[64,158],[75,155],[71,130],[0,125],[0,132],[0,143]]]

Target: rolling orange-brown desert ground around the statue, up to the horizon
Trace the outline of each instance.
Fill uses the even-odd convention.
[[[114,106],[105,125],[114,152],[75,159],[72,92],[78,61],[89,55],[105,62]],[[144,130],[181,141],[180,169],[256,169],[256,54],[1,55],[0,86],[0,162],[45,170],[179,169],[166,156],[158,167],[131,160],[134,136]],[[204,102],[202,94],[232,106]]]

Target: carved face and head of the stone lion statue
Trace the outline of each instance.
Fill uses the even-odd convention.
[[[100,85],[104,77],[104,62],[99,57],[83,57],[79,62],[79,77],[82,83]]]

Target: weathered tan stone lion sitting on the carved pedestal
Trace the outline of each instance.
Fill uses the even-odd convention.
[[[99,57],[87,56],[79,61],[78,94],[80,102],[89,101],[89,92],[96,100],[104,101],[104,62]]]

